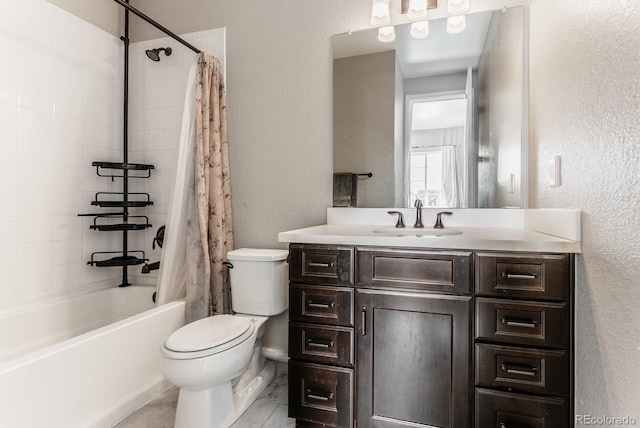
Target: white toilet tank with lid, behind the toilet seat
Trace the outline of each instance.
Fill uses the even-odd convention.
[[[234,312],[271,316],[289,307],[287,250],[240,248],[227,260]]]

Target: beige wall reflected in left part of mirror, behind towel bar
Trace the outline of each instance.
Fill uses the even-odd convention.
[[[395,52],[336,59],[333,81],[334,172],[371,172],[357,206],[393,207]]]

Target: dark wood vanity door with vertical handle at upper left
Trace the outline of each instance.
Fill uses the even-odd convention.
[[[358,426],[471,425],[471,299],[356,292]]]

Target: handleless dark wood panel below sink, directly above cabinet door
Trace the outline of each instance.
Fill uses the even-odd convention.
[[[357,251],[358,287],[471,292],[471,253],[367,248]]]

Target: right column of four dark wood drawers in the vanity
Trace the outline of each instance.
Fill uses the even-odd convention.
[[[475,426],[573,419],[573,256],[475,255]]]

